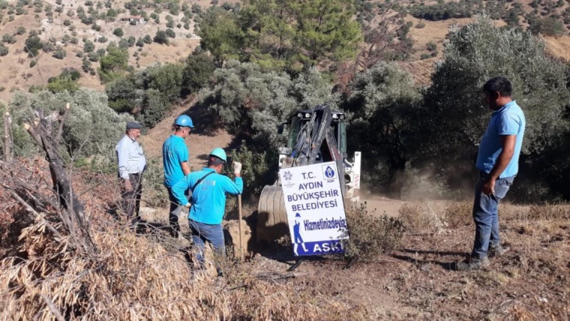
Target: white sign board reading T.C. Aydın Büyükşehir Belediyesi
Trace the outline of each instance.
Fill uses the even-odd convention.
[[[295,255],[343,253],[348,238],[336,162],[279,170]]]

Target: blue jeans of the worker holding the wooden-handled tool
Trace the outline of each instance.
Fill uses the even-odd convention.
[[[204,250],[206,241],[214,246],[214,251],[220,255],[226,255],[226,245],[223,241],[223,227],[221,224],[203,224],[194,220],[188,220],[194,249],[197,250],[196,259],[200,268],[205,265]],[[217,268],[219,272],[219,268]]]

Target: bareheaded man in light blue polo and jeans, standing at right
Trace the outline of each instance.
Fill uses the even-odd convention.
[[[457,264],[458,270],[488,266],[487,253],[502,255],[509,250],[499,242],[498,208],[519,171],[526,121],[522,109],[511,98],[512,84],[508,79],[492,78],[484,84],[483,91],[494,112],[481,138],[475,165],[481,171],[481,179],[475,187],[473,251],[468,260]]]

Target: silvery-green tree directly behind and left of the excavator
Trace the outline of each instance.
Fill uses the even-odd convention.
[[[327,102],[335,107],[331,85],[316,71],[293,81],[285,72],[266,72],[258,64],[237,60],[214,72],[209,86],[200,92],[200,102],[226,129],[248,137],[242,146],[251,148],[242,148],[234,157],[250,166],[245,181],[253,194],[275,178],[277,147],[286,140],[277,132],[278,125],[296,109]]]

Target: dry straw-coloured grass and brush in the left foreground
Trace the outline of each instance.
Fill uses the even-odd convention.
[[[88,320],[333,320],[347,308],[307,289],[262,281],[247,263],[227,262],[224,279],[211,270],[193,274],[181,253],[118,225],[93,232],[96,257],[67,250],[41,224],[21,238],[28,258],[0,263],[2,319],[52,320],[48,302],[66,319]]]

